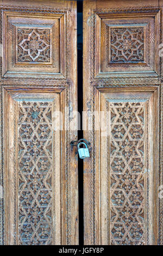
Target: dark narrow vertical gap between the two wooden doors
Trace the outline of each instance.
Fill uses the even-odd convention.
[[[77,47],[78,47],[78,112],[82,126],[83,111],[83,1],[77,1]],[[82,129],[82,127],[80,128]],[[78,131],[78,139],[83,138],[83,131]],[[79,190],[79,245],[84,245],[84,211],[83,211],[83,160],[78,157]]]

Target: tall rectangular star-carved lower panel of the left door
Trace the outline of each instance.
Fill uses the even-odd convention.
[[[60,244],[60,94],[6,94],[7,243]]]

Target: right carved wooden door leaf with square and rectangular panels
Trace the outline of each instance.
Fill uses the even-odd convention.
[[[162,5],[84,1],[86,245],[163,242]]]

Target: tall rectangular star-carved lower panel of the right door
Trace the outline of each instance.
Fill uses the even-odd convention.
[[[107,113],[99,161],[102,245],[155,243],[155,96],[101,93]]]

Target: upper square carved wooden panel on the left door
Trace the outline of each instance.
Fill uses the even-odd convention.
[[[65,15],[4,11],[3,76],[65,78]]]

